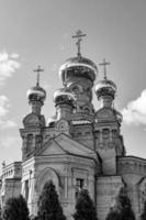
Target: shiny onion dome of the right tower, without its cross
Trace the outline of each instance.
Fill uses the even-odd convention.
[[[96,85],[96,94],[98,97],[103,95],[111,95],[114,97],[116,92],[116,85],[109,79],[103,79]]]

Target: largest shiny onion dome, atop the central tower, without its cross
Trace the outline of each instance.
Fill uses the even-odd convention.
[[[94,81],[98,74],[97,65],[89,58],[82,56],[71,57],[65,62],[59,68],[59,77],[63,82],[68,75],[68,70],[71,70],[72,76],[85,77]]]

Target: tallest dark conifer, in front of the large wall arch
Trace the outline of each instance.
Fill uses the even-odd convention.
[[[38,220],[66,220],[52,180],[45,184],[38,198],[37,218]]]

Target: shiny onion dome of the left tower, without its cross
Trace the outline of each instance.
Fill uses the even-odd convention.
[[[44,101],[46,91],[42,87],[35,86],[27,90],[26,96],[30,101]]]

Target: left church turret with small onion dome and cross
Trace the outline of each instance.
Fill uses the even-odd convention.
[[[37,73],[36,86],[27,90],[29,103],[32,107],[31,113],[23,119],[24,129],[20,129],[23,140],[22,160],[25,161],[33,155],[34,151],[42,146],[42,129],[45,127],[45,118],[41,113],[46,91],[40,86],[40,73],[43,69],[38,66],[34,72]]]

